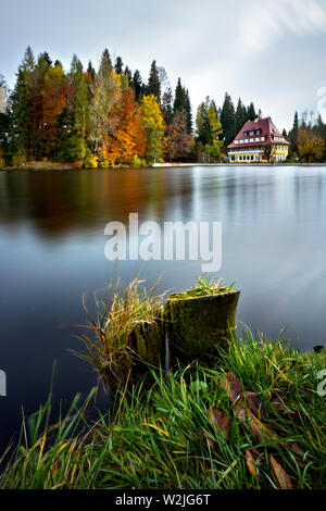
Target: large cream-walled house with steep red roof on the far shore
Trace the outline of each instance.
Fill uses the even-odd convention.
[[[279,133],[271,117],[248,121],[227,146],[230,162],[284,161],[290,142]]]

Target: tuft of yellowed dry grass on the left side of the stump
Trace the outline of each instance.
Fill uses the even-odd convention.
[[[124,387],[127,377],[135,383],[141,363],[159,365],[163,349],[160,322],[164,295],[155,295],[156,284],[149,292],[145,281],[138,278],[126,288],[111,285],[108,295],[111,291],[112,298],[105,303],[97,301],[96,319],[84,303],[89,324],[82,326],[91,334],[80,335],[88,354],[78,354],[98,371],[111,394],[118,386]]]

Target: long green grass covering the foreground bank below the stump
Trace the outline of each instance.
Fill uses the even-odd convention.
[[[174,374],[155,372],[150,389],[141,383],[121,389],[111,412],[99,413],[95,424],[85,419],[91,396],[85,403],[76,399],[67,416],[51,427],[49,401],[34,416],[29,434],[22,435],[0,488],[277,488],[271,454],[293,488],[323,488],[326,409],[317,394],[317,374],[325,363],[323,353],[301,353],[246,331],[242,340],[233,339],[220,351],[212,369],[195,363]],[[221,377],[229,371],[266,409],[266,417],[259,420],[261,443],[249,417],[236,419],[237,403],[221,388]],[[291,415],[273,408],[275,396]],[[229,441],[208,419],[213,407],[228,416]],[[294,443],[302,454],[293,452]],[[259,477],[248,469],[248,450]]]

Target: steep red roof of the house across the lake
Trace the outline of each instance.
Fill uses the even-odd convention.
[[[256,133],[258,130],[261,133]],[[250,132],[254,132],[254,135],[249,135]],[[246,135],[244,135],[246,134]],[[265,140],[251,142],[250,139],[264,137]],[[281,140],[275,140],[274,137],[281,137]],[[248,139],[248,141],[247,141]],[[246,140],[242,144],[236,144],[236,140]],[[281,133],[277,129],[271,117],[259,119],[258,121],[248,121],[242,129],[238,133],[235,140],[227,146],[228,149],[235,149],[238,147],[255,147],[255,146],[267,146],[267,144],[286,144],[290,145]]]

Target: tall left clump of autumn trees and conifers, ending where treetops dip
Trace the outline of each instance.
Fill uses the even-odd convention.
[[[173,95],[155,61],[145,83],[121,57],[113,63],[108,49],[98,71],[91,62],[84,70],[74,55],[65,72],[47,52],[35,59],[28,47],[7,96],[0,144],[15,165],[43,159],[77,167],[137,165],[187,158],[193,144],[188,90],[179,79]]]

